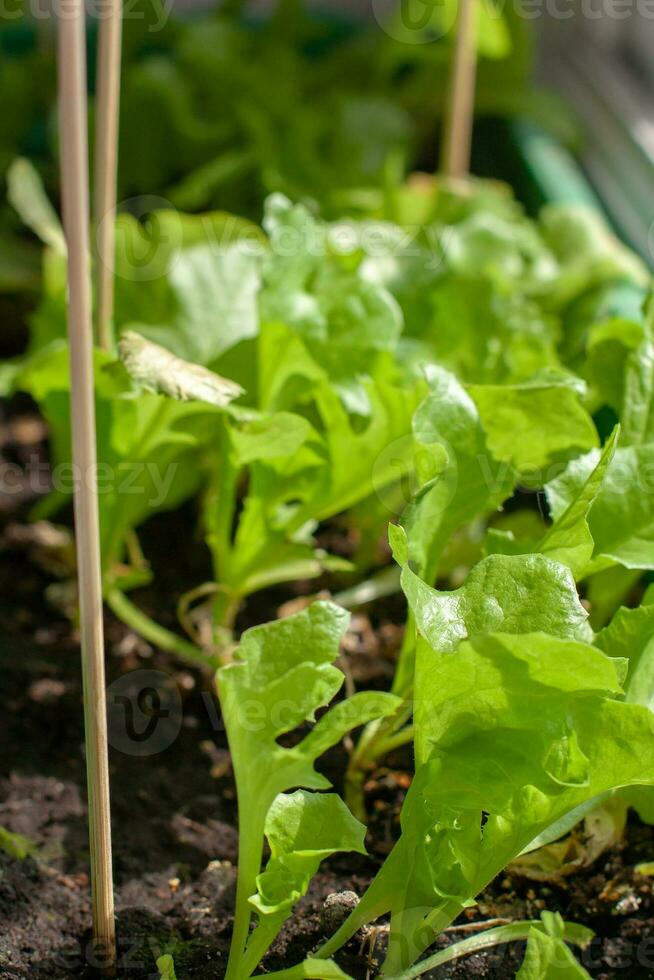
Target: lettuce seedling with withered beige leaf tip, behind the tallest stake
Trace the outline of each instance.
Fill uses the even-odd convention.
[[[135,370],[133,381],[120,362],[95,352],[103,589],[114,612],[152,642],[206,665],[201,650],[149,620],[124,594],[151,577],[138,555],[129,567],[124,564],[135,530],[148,517],[179,506],[199,491],[202,452],[213,441],[217,418],[240,393],[231,382],[179,359],[173,359],[171,372],[171,357],[149,345],[149,373],[145,377]],[[164,372],[158,370],[162,360]],[[136,353],[133,368],[135,361]],[[165,390],[158,383],[162,373],[174,378],[175,390],[168,395],[158,393]],[[56,513],[70,499],[75,479],[85,478],[75,474],[70,464],[66,344],[55,341],[29,358],[13,385],[33,395],[49,425],[54,490],[35,508],[35,516],[43,517]]]

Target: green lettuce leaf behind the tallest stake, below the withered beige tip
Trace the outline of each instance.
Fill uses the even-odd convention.
[[[98,505],[105,577],[121,561],[125,538],[143,520],[197,492],[198,454],[210,444],[220,410],[136,391],[115,362],[95,352]],[[41,406],[50,429],[53,492],[41,513],[73,492],[68,348],[62,341],[30,358],[14,379]]]

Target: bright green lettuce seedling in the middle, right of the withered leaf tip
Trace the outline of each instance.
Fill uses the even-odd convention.
[[[271,332],[278,350],[286,351],[274,379],[265,357]],[[204,508],[222,592],[217,618],[227,626],[242,599],[258,589],[313,578],[325,568],[349,567],[321,553],[313,531],[320,521],[387,491],[412,471],[416,444],[411,417],[424,394],[421,381],[400,385],[383,377],[363,380],[359,388],[369,417],[358,420],[287,328],[264,328],[260,346],[270,407],[263,413],[225,416]],[[281,374],[288,377],[287,384]],[[297,390],[298,383],[306,382],[311,394],[305,404],[293,402],[295,411],[285,410],[289,387]],[[245,477],[247,493],[240,500]],[[379,517],[380,532],[385,517]]]

